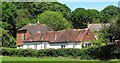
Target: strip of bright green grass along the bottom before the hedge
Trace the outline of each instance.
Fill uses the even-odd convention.
[[[7,61],[7,62],[6,62]],[[2,63],[120,63],[119,60],[111,61],[99,61],[99,60],[80,60],[68,57],[42,57],[42,58],[32,58],[32,57],[9,57],[3,56]],[[38,61],[38,62],[37,62]],[[39,62],[40,61],[40,62]]]

